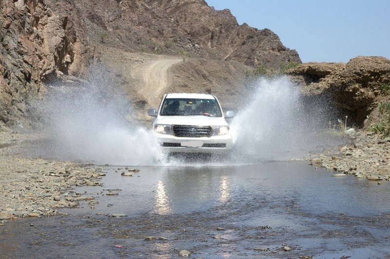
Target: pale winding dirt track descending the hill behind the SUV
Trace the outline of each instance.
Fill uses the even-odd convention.
[[[143,87],[138,91],[149,104],[157,107],[163,90],[169,85],[168,70],[182,59],[155,60],[139,67]]]

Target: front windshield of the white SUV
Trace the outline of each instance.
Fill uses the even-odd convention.
[[[210,116],[222,117],[215,99],[168,99],[162,104],[161,116]]]

